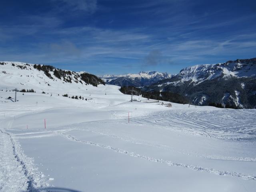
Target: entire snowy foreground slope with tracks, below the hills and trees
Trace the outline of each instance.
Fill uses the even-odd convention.
[[[117,86],[86,89],[72,92],[87,101],[49,90],[18,92],[16,103],[0,91],[1,192],[255,191],[256,110],[168,108],[128,102]]]

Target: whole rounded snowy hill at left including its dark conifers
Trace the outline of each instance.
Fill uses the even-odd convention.
[[[33,89],[36,92],[86,89],[105,84],[100,78],[86,72],[61,70],[49,65],[22,62],[0,62],[0,89]]]

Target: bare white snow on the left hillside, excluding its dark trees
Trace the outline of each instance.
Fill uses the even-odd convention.
[[[4,64],[1,64],[4,63]],[[64,81],[64,78],[57,78],[53,71],[49,71],[52,78],[46,76],[44,71],[33,67],[33,64],[26,64],[22,62],[0,62],[0,90],[12,90],[18,88],[34,89],[36,92],[46,93],[76,93],[77,90],[81,92],[86,91],[88,87],[90,91],[97,90],[92,85],[87,85],[85,82],[81,83],[76,79],[79,74],[83,72],[70,72],[70,82]],[[78,77],[79,78],[79,77]],[[77,82],[76,82],[77,81]],[[103,86],[102,84],[100,84]],[[61,89],[60,89],[61,87]]]

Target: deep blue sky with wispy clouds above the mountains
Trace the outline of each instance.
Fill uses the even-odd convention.
[[[1,0],[0,60],[102,75],[253,57],[255,0]]]

